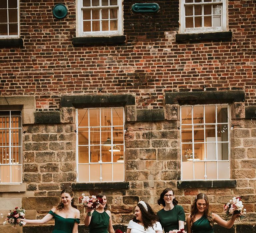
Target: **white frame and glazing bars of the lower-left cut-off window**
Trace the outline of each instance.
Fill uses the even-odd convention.
[[[19,160],[20,160],[20,163],[19,164],[13,164],[12,163],[12,159],[9,159],[9,163],[2,163],[3,161],[1,161],[1,159],[2,158],[0,158],[0,165],[1,166],[10,166],[10,181],[12,181],[12,166],[19,166],[20,168],[19,169],[21,169],[21,171],[22,171],[22,119],[20,119],[20,127],[11,127],[12,126],[12,124],[11,124],[11,119],[12,119],[12,116],[15,116],[15,115],[12,115],[11,114],[11,112],[12,111],[17,111],[17,110],[0,110],[0,116],[1,116],[1,112],[8,112],[9,111],[9,119],[10,119],[10,121],[9,121],[9,127],[2,127],[2,128],[0,128],[1,130],[9,130],[9,146],[8,146],[8,148],[9,148],[9,154],[13,154],[12,153],[12,148],[13,147],[18,147],[18,148],[20,148],[20,158],[19,158]],[[20,129],[21,130],[21,133],[20,133],[20,138],[19,138],[19,141],[20,141],[20,145],[19,146],[13,146],[12,145],[12,130],[13,129]],[[0,149],[1,150],[3,150],[4,148],[5,148],[6,146],[3,146],[3,145],[1,145],[0,144]],[[19,156],[19,155],[18,155]],[[12,157],[11,157],[12,158]],[[1,168],[0,168],[1,169]],[[22,172],[21,172],[21,177],[22,177]],[[1,179],[1,177],[0,177],[0,179]],[[22,180],[22,179],[21,179]],[[22,181],[21,182],[2,182],[2,183],[0,183],[0,185],[1,184],[20,184],[20,183],[22,183]]]

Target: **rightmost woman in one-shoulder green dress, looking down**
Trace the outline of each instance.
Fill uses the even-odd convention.
[[[209,200],[206,194],[199,193],[191,205],[191,214],[187,218],[187,233],[213,233],[213,223],[222,227],[231,228],[240,214],[232,215],[227,222],[218,214],[209,209]]]

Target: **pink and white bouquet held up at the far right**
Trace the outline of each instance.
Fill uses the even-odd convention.
[[[224,211],[226,212],[227,216],[231,214],[241,214],[240,220],[245,218],[243,214],[246,214],[246,209],[243,208],[244,205],[240,197],[233,197],[227,204],[224,205]]]

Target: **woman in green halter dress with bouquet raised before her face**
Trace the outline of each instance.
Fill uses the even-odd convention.
[[[112,218],[109,210],[107,208],[107,197],[104,193],[98,193],[97,198],[102,198],[103,203],[95,210],[86,207],[86,216],[84,219],[84,225],[89,226],[90,233],[115,233],[112,226]],[[88,216],[87,213],[91,212],[92,216]]]

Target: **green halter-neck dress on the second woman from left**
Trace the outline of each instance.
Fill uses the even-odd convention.
[[[108,233],[108,225],[109,215],[107,212],[99,213],[94,210],[89,224],[90,233]]]

